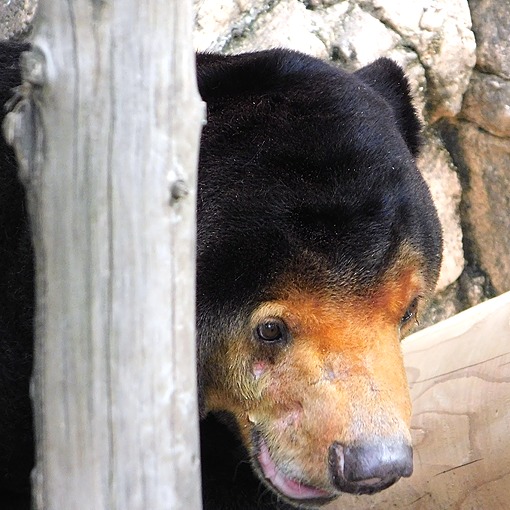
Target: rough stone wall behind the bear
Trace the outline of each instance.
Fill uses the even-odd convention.
[[[0,39],[27,32],[36,0],[0,4]],[[510,2],[194,0],[195,47],[287,47],[347,69],[379,56],[411,80],[425,125],[419,161],[444,230],[422,325],[510,290]]]

